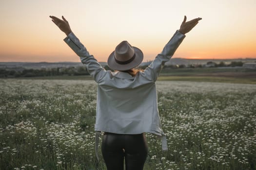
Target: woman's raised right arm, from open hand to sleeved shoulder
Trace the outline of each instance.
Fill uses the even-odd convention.
[[[178,46],[185,38],[185,34],[190,32],[202,18],[198,17],[186,22],[187,17],[184,16],[183,22],[180,25],[180,29],[172,36],[170,41],[164,46],[163,51],[157,55],[155,60],[141,72],[145,77],[150,77],[152,81],[157,81],[158,75],[162,70],[164,64],[169,61]]]

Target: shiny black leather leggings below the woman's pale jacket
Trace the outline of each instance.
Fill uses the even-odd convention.
[[[101,152],[108,170],[143,170],[148,154],[144,134],[121,135],[104,133]]]

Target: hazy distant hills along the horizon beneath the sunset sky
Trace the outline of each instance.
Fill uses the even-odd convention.
[[[256,62],[256,59],[184,59],[184,58],[172,58],[170,61],[166,62],[165,65],[204,65],[207,62],[215,62],[215,63],[231,63],[232,61],[241,61],[243,63],[247,62]],[[152,61],[143,62],[141,66],[149,65]],[[106,66],[106,62],[99,62],[102,67]],[[78,67],[83,66],[81,62],[56,62],[56,63],[48,63],[48,62],[0,62],[0,68],[25,68],[25,69],[40,69],[40,68],[63,68],[63,67]]]

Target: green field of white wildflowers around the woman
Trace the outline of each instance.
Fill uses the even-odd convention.
[[[106,170],[94,151],[96,83],[1,79],[0,86],[0,170]],[[256,85],[157,88],[168,151],[146,134],[145,170],[256,170]]]

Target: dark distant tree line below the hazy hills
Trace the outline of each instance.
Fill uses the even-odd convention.
[[[215,63],[207,62],[206,65],[169,65],[164,66],[163,69],[170,68],[205,68],[205,67],[236,67],[243,66],[241,61],[233,61],[230,64],[225,64],[224,62]],[[104,67],[106,70],[111,70],[108,66]],[[145,69],[147,66],[140,67],[140,69]],[[87,68],[84,66],[79,67],[62,67],[62,68],[41,68],[41,69],[22,69],[17,68],[0,68],[0,77],[40,77],[40,76],[62,76],[62,75],[89,75]]]

